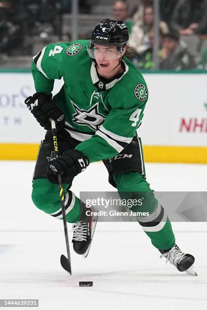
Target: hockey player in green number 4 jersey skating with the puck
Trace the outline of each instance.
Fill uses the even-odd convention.
[[[70,187],[73,178],[90,163],[102,160],[109,182],[121,197],[126,198],[126,192],[128,199],[146,193],[145,207],[150,215],[137,220],[161,257],[183,272],[192,266],[194,257],[176,245],[170,221],[145,177],[142,143],[136,130],[143,119],[148,88],[140,71],[125,57],[127,42],[126,25],[106,19],[96,25],[89,41],[50,44],[33,57],[31,69],[37,93],[25,103],[47,133],[34,170],[32,201],[51,216],[62,218],[57,181],[60,173],[66,220],[75,223],[74,250],[85,254],[96,219],[86,216],[85,205]],[[64,85],[52,98],[54,80],[61,78]],[[50,118],[58,130],[60,157],[56,160]],[[132,156],[113,160],[117,154]]]

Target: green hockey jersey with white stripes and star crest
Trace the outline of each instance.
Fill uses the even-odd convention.
[[[109,159],[132,140],[141,124],[148,90],[140,71],[126,58],[123,74],[102,79],[87,54],[87,40],[50,44],[33,57],[37,92],[51,93],[55,79],[64,85],[53,101],[65,115],[65,128],[81,143],[89,162]]]

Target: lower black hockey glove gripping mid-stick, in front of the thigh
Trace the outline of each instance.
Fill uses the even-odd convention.
[[[66,149],[62,156],[49,163],[47,167],[47,178],[51,183],[58,183],[57,175],[60,174],[63,183],[70,183],[88,165],[89,160],[81,151]]]

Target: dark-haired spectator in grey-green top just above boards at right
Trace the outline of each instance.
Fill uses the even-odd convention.
[[[195,62],[187,47],[179,43],[177,33],[166,33],[162,37],[160,69],[186,70],[195,68]]]

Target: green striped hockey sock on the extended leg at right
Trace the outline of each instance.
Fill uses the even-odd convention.
[[[142,206],[135,206],[132,211],[149,212],[149,216],[138,217],[140,225],[157,249],[169,249],[175,245],[175,236],[171,224],[162,206],[153,195],[149,183],[138,172],[114,174],[120,197],[144,198]]]

